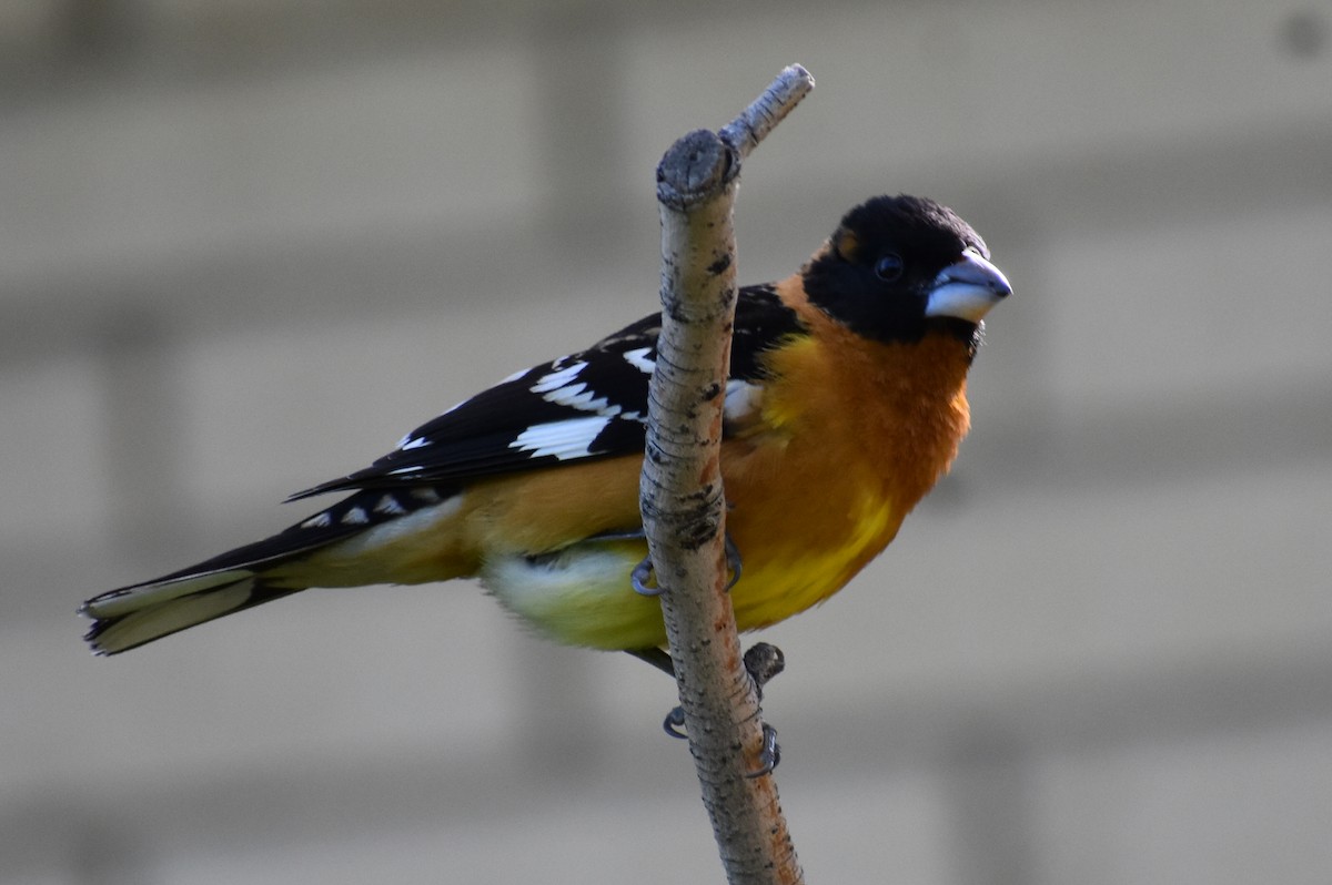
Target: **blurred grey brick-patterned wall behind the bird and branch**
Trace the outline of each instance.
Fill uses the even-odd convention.
[[[741,277],[883,192],[1016,294],[951,478],[771,629],[810,881],[1332,881],[1332,3],[0,5],[0,881],[721,881],[674,688],[476,587],[115,660],[85,596],[655,306],[653,169],[785,65]]]

